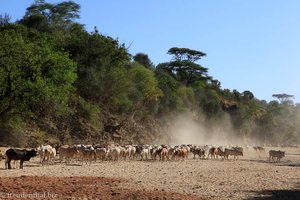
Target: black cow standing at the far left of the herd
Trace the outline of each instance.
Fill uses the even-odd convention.
[[[35,157],[37,155],[37,151],[34,149],[30,151],[26,149],[8,149],[5,152],[5,155],[5,169],[11,169],[10,162],[12,160],[20,160],[20,169],[23,169],[23,162],[29,161],[32,157]]]

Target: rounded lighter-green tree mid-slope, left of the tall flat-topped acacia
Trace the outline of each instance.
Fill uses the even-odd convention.
[[[115,81],[110,99],[115,110],[136,113],[143,111],[145,106],[155,107],[161,91],[152,70],[138,63],[129,63],[126,68],[115,70],[112,74]]]

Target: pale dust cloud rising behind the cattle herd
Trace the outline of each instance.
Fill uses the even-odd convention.
[[[169,144],[199,145],[242,145],[246,141],[234,131],[230,117],[207,120],[185,113],[168,118],[167,135]]]

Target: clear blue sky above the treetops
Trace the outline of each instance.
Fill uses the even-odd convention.
[[[14,22],[31,0],[0,0]],[[48,0],[50,3],[61,1]],[[207,54],[199,64],[222,88],[250,90],[258,99],[295,95],[300,103],[300,1],[298,0],[75,0],[80,23],[167,62],[171,47]],[[130,45],[131,44],[131,45]]]

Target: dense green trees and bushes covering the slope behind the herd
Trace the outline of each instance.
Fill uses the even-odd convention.
[[[228,117],[234,134],[263,143],[300,142],[292,95],[259,100],[221,89],[199,64],[205,53],[172,47],[155,66],[147,54],[76,22],[80,5],[35,1],[24,17],[0,16],[0,142],[153,142],[170,116],[188,113],[205,130]],[[203,123],[204,122],[204,123]]]

